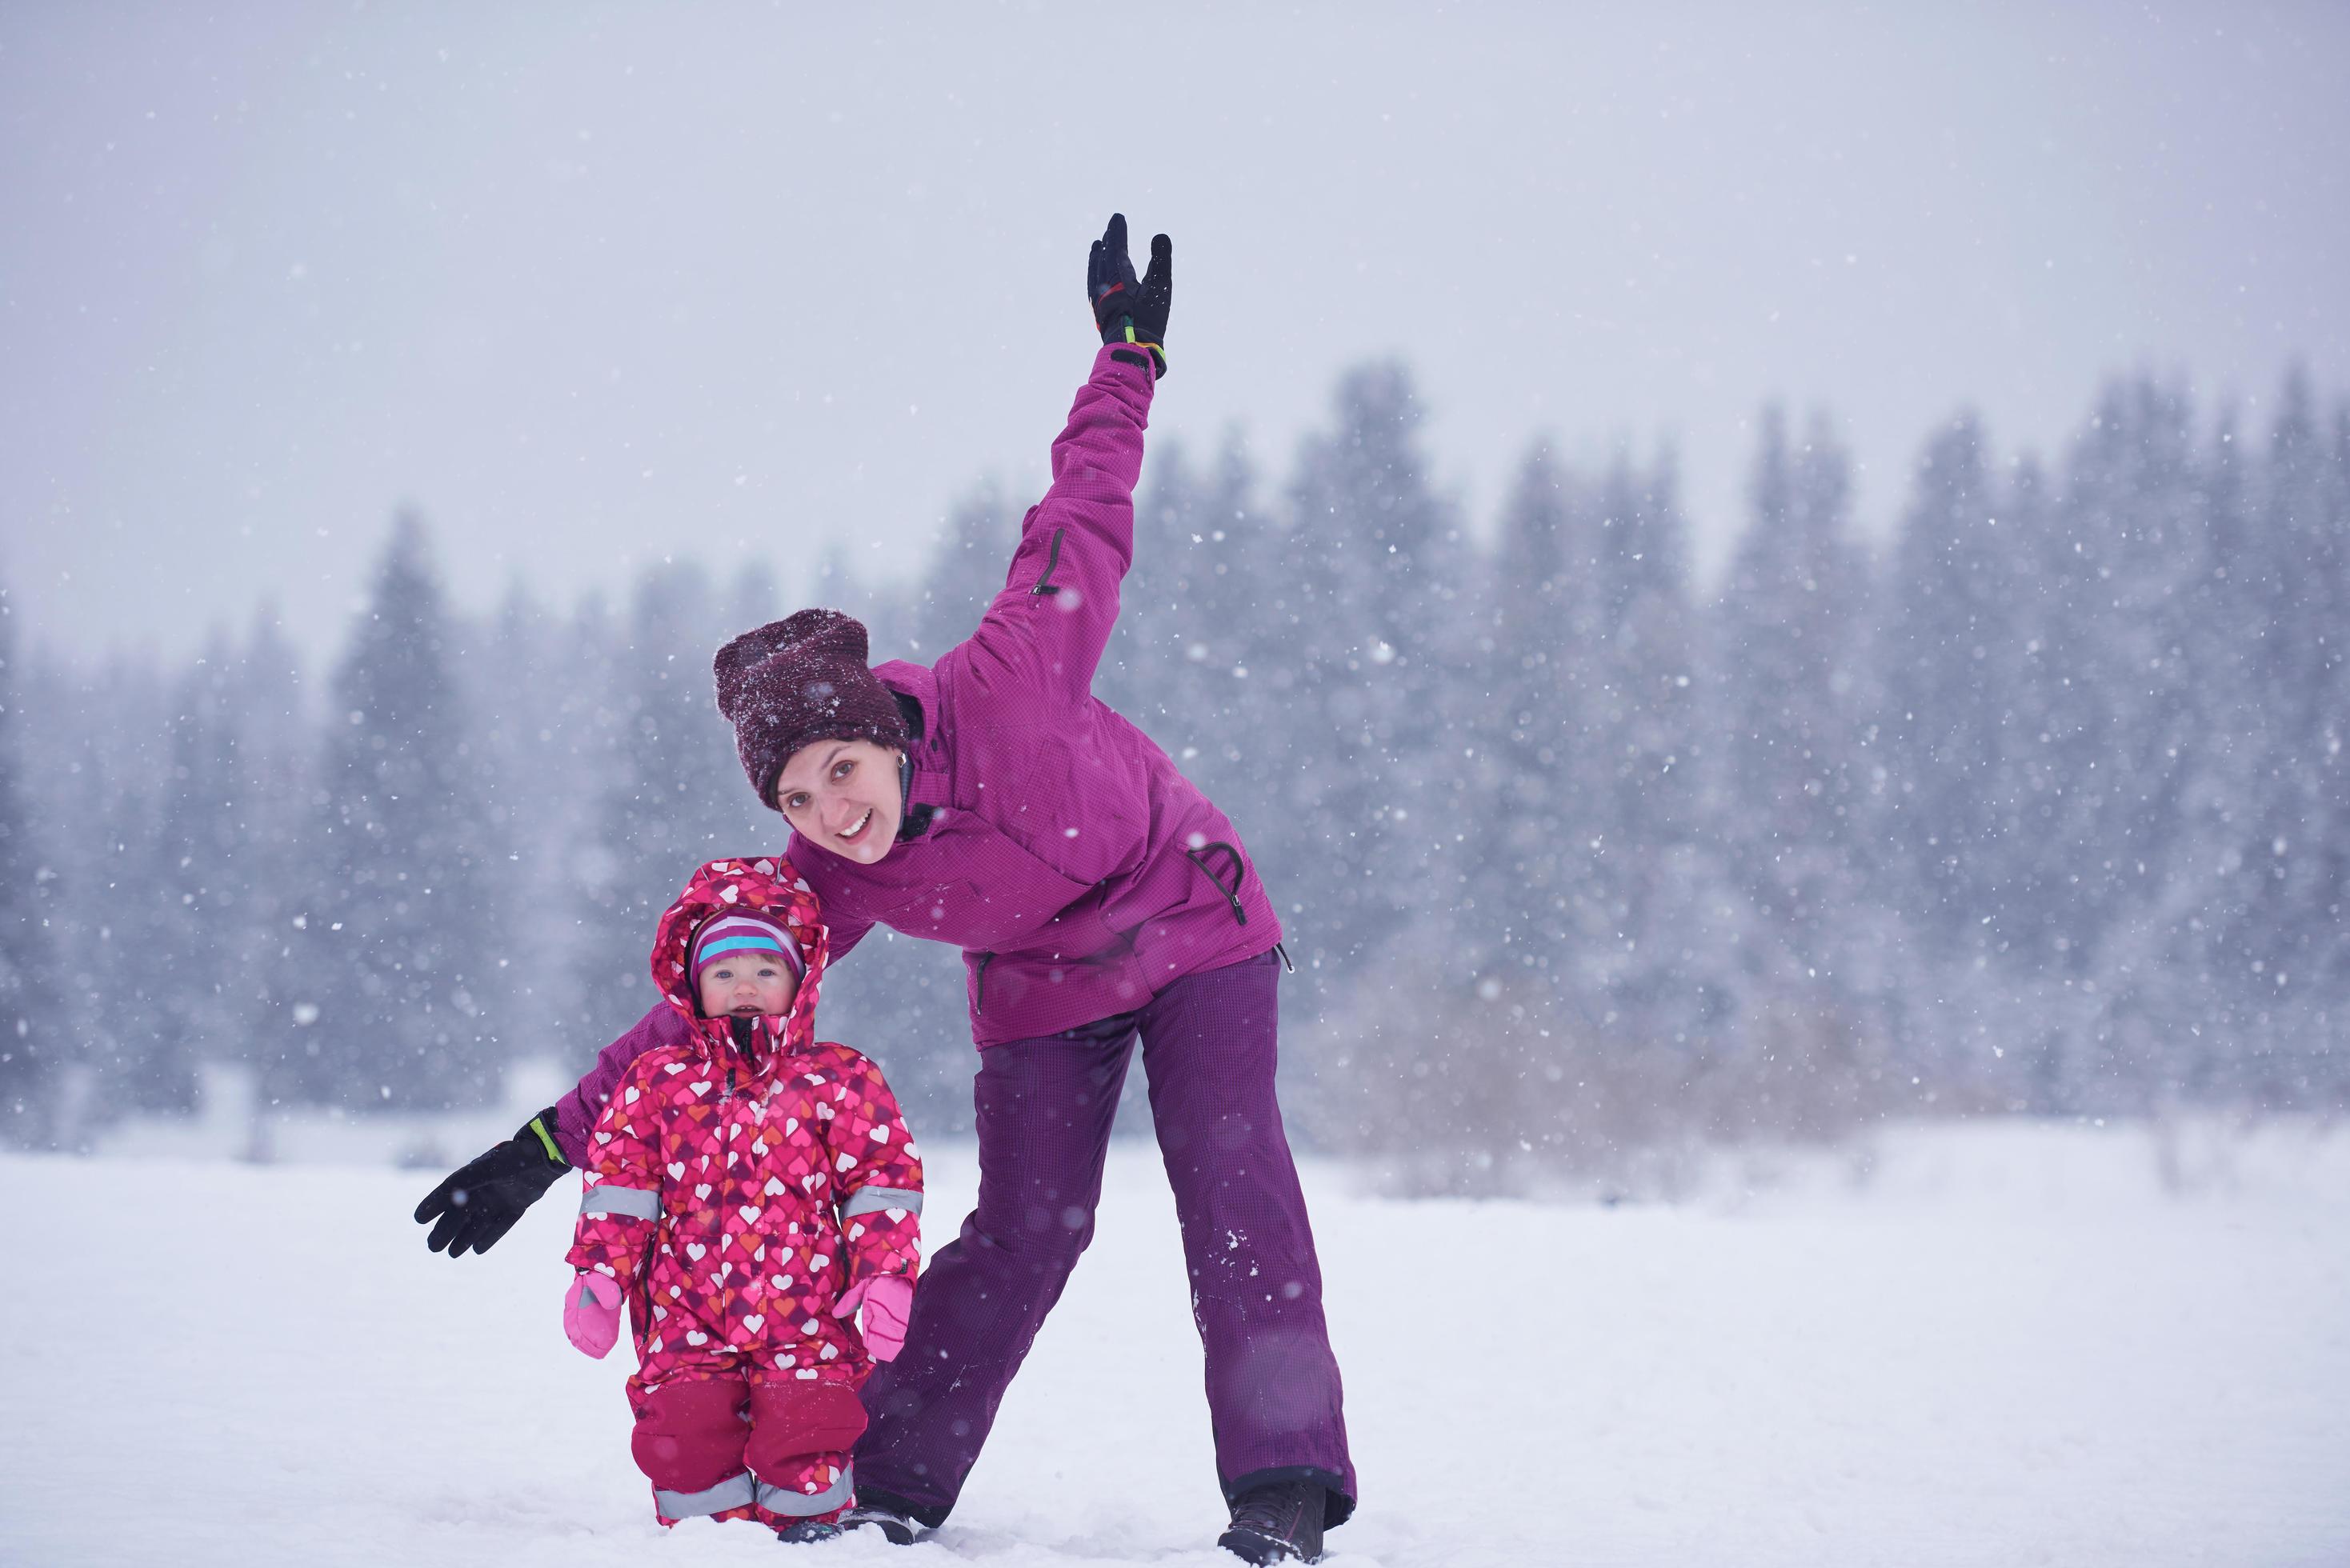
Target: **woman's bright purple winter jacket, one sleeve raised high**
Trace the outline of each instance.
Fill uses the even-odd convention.
[[[834,961],[874,924],[964,950],[980,1048],[1130,1013],[1281,940],[1224,813],[1093,696],[1135,557],[1152,390],[1144,355],[1102,348],[980,630],[931,668],[874,668],[921,708],[900,842],[877,865],[797,835],[785,846],[822,900]],[[557,1103],[571,1164],[627,1065],[682,1027],[656,1006]]]

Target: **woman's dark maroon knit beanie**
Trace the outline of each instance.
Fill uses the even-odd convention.
[[[907,750],[905,715],[865,668],[865,625],[837,609],[804,609],[743,632],[712,665],[736,755],[776,806],[776,776],[813,741],[874,741]]]

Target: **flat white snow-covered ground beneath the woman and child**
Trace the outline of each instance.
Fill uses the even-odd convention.
[[[973,1182],[935,1147],[933,1232]],[[2350,1563],[2350,1133],[1913,1128],[1678,1206],[1309,1168],[1363,1512],[1340,1568]],[[947,1530],[663,1535],[571,1204],[425,1253],[430,1173],[0,1159],[0,1563],[1156,1563],[1222,1514],[1173,1208],[1100,1239]],[[559,1190],[564,1192],[564,1190]]]

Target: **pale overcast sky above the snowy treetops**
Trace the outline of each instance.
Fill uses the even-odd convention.
[[[1175,235],[1159,440],[1278,480],[1403,355],[1478,527],[1546,430],[1678,442],[1718,555],[1767,397],[1882,527],[1960,404],[2049,447],[2115,369],[2350,374],[2350,5],[851,12],[0,5],[33,639],[275,595],[322,654],[402,503],[468,607],[907,571],[1041,484],[1114,207]]]

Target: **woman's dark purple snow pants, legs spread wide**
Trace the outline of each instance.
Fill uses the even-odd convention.
[[[862,1500],[928,1526],[954,1507],[1003,1389],[1093,1241],[1109,1119],[1140,1032],[1224,1497],[1314,1479],[1330,1488],[1328,1523],[1354,1512],[1321,1265],[1274,1103],[1278,978],[1267,952],[1184,976],[1133,1013],[980,1053],[980,1206],[921,1272],[905,1349],[865,1382]]]

